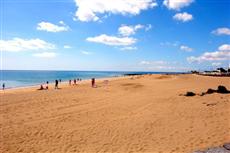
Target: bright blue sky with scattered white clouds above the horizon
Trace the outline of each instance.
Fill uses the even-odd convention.
[[[228,67],[227,0],[1,0],[1,68]]]

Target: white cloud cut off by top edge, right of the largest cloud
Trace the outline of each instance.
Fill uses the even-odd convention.
[[[164,0],[163,4],[170,10],[180,10],[189,6],[194,0]]]

